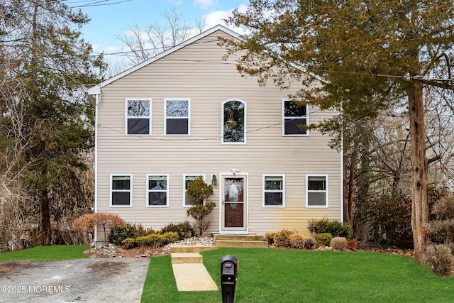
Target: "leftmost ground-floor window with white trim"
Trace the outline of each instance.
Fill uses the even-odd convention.
[[[111,206],[132,206],[133,176],[111,175]]]

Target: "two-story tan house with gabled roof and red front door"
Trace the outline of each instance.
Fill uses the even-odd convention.
[[[308,124],[333,116],[241,77],[216,26],[88,91],[96,106],[94,210],[158,230],[187,218],[189,180],[214,184],[208,233],[308,235],[343,218],[342,155]],[[103,241],[103,233],[96,241]]]

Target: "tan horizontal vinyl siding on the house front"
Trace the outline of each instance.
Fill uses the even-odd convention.
[[[259,87],[257,79],[240,77],[232,60],[223,61],[218,31],[102,87],[98,107],[96,211],[120,214],[126,221],[160,229],[186,218],[184,174],[216,175],[218,206],[209,231],[219,231],[220,174],[238,168],[248,174],[248,231],[265,234],[288,228],[308,234],[309,219],[341,216],[341,155],[328,147],[330,138],[282,136],[282,99],[288,92],[274,84]],[[125,100],[152,99],[152,135],[125,136]],[[190,99],[190,136],[165,136],[165,99]],[[221,143],[221,104],[237,99],[247,106],[245,144]],[[333,113],[309,108],[314,123]],[[329,175],[329,208],[307,209],[306,174]],[[133,206],[109,207],[111,174],[133,175]],[[146,207],[146,176],[168,174],[169,206]],[[285,207],[262,207],[262,175],[285,175]]]

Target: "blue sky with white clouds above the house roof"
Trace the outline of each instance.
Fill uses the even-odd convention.
[[[204,18],[206,27],[222,24],[223,18],[233,9],[243,10],[248,0],[70,0],[72,7],[81,6],[91,21],[82,28],[84,39],[91,43],[96,53],[115,53],[122,50],[118,35],[137,24],[166,26],[162,13],[175,10],[182,13],[184,21],[194,24]]]

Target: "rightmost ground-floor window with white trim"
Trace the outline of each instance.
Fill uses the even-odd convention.
[[[328,175],[306,175],[306,207],[328,207]]]

